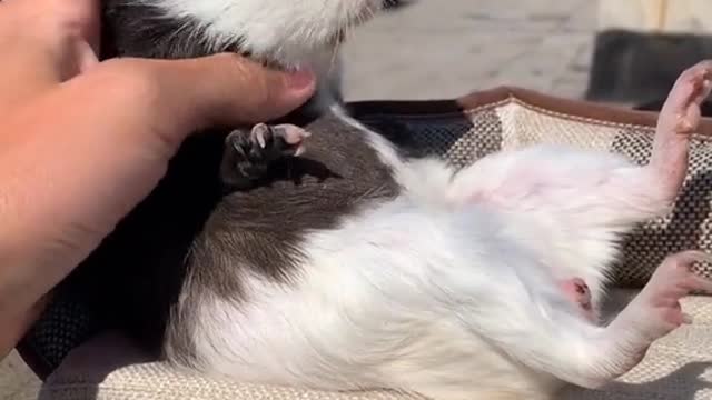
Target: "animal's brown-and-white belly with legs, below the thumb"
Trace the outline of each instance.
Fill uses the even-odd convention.
[[[682,73],[642,167],[538,144],[455,171],[338,107],[308,129],[235,130],[164,357],[248,382],[433,399],[604,386],[690,322],[682,297],[712,291],[692,272],[709,254],[671,254],[600,322],[621,234],[674,206],[711,87],[712,61]]]

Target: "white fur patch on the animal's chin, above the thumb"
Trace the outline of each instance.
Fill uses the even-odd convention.
[[[167,18],[197,21],[200,41],[212,49],[239,38],[241,50],[287,68],[329,62],[344,31],[382,8],[380,0],[142,1],[164,10]]]

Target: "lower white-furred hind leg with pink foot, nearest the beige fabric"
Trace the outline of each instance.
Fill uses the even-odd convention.
[[[551,303],[545,313],[532,310],[518,316],[521,329],[506,321],[491,327],[488,337],[497,338],[508,354],[535,371],[584,388],[600,388],[637,366],[653,341],[690,322],[680,299],[693,291],[712,292],[712,281],[691,269],[694,262],[711,259],[700,251],[670,256],[606,327]]]

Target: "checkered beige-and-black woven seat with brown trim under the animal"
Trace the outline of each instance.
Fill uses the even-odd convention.
[[[651,152],[656,114],[573,101],[502,87],[444,101],[374,101],[349,104],[366,124],[393,133],[421,153],[436,153],[467,166],[493,151],[534,143],[562,143],[619,152],[644,163]],[[649,279],[669,253],[712,250],[712,121],[694,136],[690,172],[670,216],[636,229],[624,242],[606,308],[614,312]],[[699,272],[712,276],[711,266]],[[568,388],[562,399],[712,398],[712,298],[684,299],[694,318],[652,346],[641,364],[597,391]],[[208,380],[148,359],[120,337],[90,338],[91,314],[71,298],[57,298],[19,351],[44,380],[47,400],[406,400],[392,391],[323,392]]]

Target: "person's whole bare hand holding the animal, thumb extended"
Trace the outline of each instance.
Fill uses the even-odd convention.
[[[98,0],[0,0],[0,358],[186,136],[281,117],[315,89],[235,54],[98,62]]]

